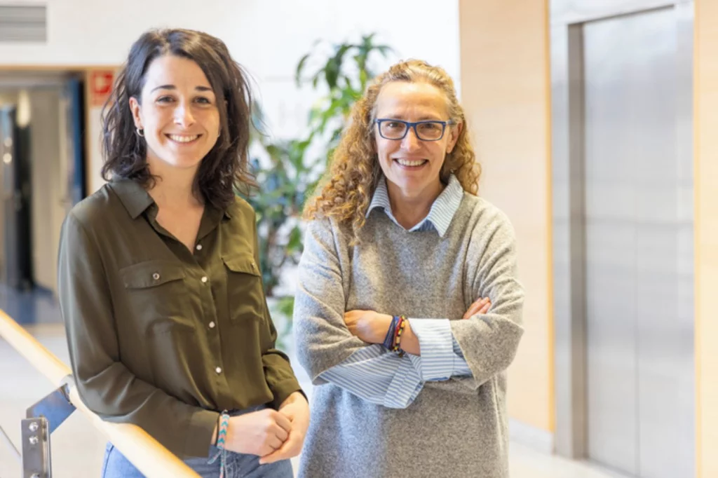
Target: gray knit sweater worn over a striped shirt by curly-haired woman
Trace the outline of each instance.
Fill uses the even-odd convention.
[[[299,476],[508,477],[505,370],[523,334],[508,219],[465,194],[443,237],[408,232],[376,211],[360,243],[350,242],[336,222],[309,224],[294,322],[299,362],[319,386]],[[490,298],[488,314],[460,320],[478,297]],[[326,383],[320,373],[366,346],[344,324],[352,309],[452,319],[473,377],[428,382],[406,409]]]

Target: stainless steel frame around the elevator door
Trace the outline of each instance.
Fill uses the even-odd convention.
[[[693,1],[551,0],[554,379],[556,453],[587,456],[584,231],[584,22],[673,6],[678,19],[681,118],[692,118]],[[692,161],[692,121],[676,132],[681,161]],[[692,214],[692,210],[688,213]]]

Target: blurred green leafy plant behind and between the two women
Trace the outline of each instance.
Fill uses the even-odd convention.
[[[373,60],[391,52],[386,44],[377,44],[374,37],[375,34],[368,34],[356,43],[315,43],[312,51],[299,60],[295,72],[298,88],[310,84],[313,90],[326,92],[309,112],[306,136],[271,141],[256,132],[253,138],[254,144],[261,145],[263,157],[251,159],[259,189],[247,195],[246,200],[257,215],[265,294],[273,303],[276,323],[281,324],[277,326],[279,347],[286,346],[284,337],[291,331],[294,296],[276,294],[275,289],[287,266],[296,266],[302,256],[304,202],[317,186],[353,104],[375,76]],[[305,70],[317,62],[320,67],[305,76]],[[264,122],[257,104],[254,114],[256,125]],[[276,317],[278,314],[281,317]]]

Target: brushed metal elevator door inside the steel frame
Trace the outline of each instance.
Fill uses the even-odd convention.
[[[676,14],[584,24],[589,458],[694,476],[691,158]],[[688,74],[690,74],[688,72]],[[690,145],[688,145],[690,148]]]

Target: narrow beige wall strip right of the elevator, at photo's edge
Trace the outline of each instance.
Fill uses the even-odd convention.
[[[696,1],[696,365],[699,477],[718,477],[718,1]]]

